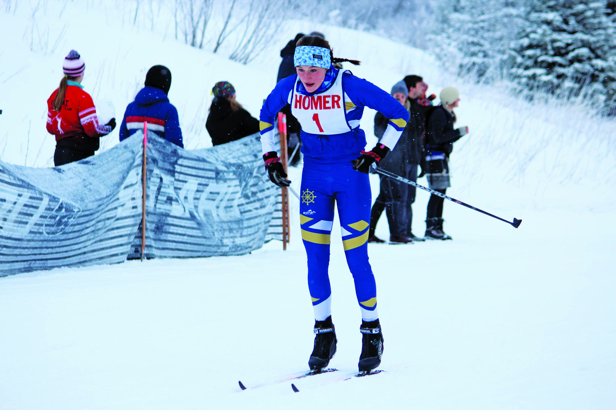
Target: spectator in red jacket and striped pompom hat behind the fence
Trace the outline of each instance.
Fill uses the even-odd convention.
[[[86,65],[71,50],[62,65],[60,87],[47,100],[47,132],[55,135],[54,165],[68,164],[94,155],[99,138],[115,128],[115,118],[99,124],[92,97],[83,90]]]

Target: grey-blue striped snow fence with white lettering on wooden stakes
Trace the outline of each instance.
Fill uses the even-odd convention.
[[[282,238],[256,136],[197,150],[147,141],[146,258],[245,254]],[[0,161],[0,276],[139,258],[142,146],[137,132],[62,167]]]

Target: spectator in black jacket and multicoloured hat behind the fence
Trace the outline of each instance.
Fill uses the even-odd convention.
[[[214,100],[205,123],[212,145],[230,143],[259,132],[259,120],[235,101],[233,85],[227,81],[217,82],[212,93]]]

